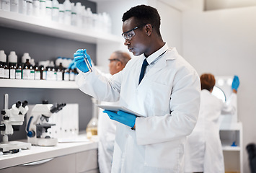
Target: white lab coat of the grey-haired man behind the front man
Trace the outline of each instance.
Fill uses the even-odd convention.
[[[101,102],[101,105],[118,105],[118,102]],[[118,122],[111,120],[106,113],[99,110],[98,118],[98,162],[100,173],[110,173],[115,144],[115,131]]]

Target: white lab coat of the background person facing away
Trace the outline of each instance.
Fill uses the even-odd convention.
[[[187,136],[185,146],[185,172],[224,173],[219,116],[221,113],[234,114],[237,94],[232,93],[225,103],[206,89],[200,95],[198,122],[190,136]]]

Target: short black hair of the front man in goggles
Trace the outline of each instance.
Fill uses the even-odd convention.
[[[151,24],[152,27],[156,30],[156,33],[161,37],[160,34],[160,15],[157,12],[157,9],[152,6],[138,5],[133,6],[127,12],[123,14],[122,21],[135,17],[137,25],[142,24]]]

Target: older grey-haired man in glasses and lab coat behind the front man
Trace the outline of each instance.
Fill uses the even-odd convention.
[[[126,63],[131,60],[131,56],[123,51],[115,51],[111,54],[108,64],[111,77],[123,70]],[[118,102],[101,102],[102,105],[118,105]],[[98,119],[98,162],[100,173],[110,173],[115,144],[115,130],[117,121],[111,120],[105,113],[99,111]]]

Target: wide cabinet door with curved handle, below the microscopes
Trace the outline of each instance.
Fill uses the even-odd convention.
[[[36,165],[19,165],[16,167],[10,167],[1,169],[1,173],[74,173],[76,172],[76,154],[70,154],[67,156],[60,156],[53,158],[52,160],[43,164]]]

